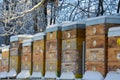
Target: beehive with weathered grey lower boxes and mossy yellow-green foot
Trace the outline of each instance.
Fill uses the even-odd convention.
[[[76,77],[82,75],[82,44],[85,41],[85,24],[62,24],[62,63],[61,73],[73,72]]]

